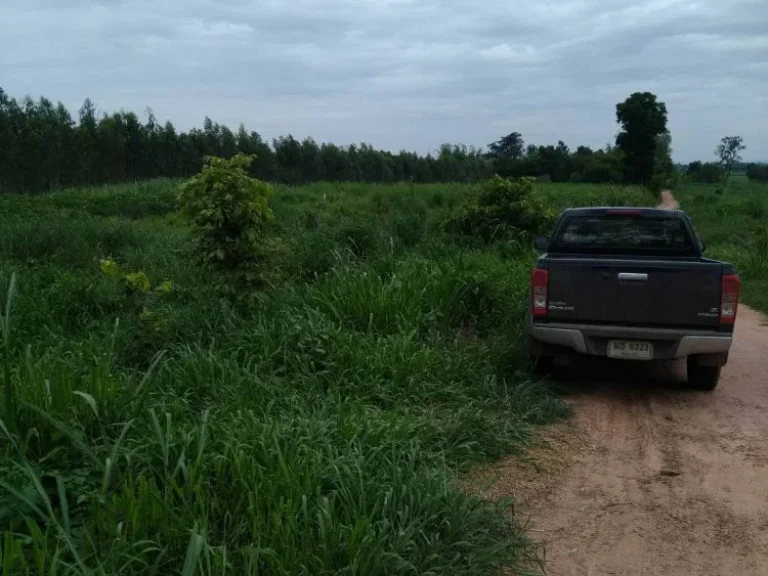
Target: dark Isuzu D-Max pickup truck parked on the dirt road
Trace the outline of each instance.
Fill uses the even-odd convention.
[[[571,208],[537,238],[529,354],[687,358],[688,383],[713,390],[728,361],[740,282],[702,256],[688,216],[659,208]]]

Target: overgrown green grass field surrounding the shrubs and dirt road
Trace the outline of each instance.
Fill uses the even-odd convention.
[[[535,570],[509,503],[454,482],[566,412],[524,362],[528,239],[444,232],[465,185],[281,187],[274,287],[243,311],[197,266],[177,186],[0,197],[0,573]],[[680,193],[756,305],[765,263],[740,247],[760,246],[762,192]]]

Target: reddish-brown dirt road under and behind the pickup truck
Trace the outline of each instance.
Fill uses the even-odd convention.
[[[508,461],[482,480],[516,498],[548,574],[768,575],[764,317],[739,308],[711,393],[687,390],[680,362],[579,360],[556,376],[573,416],[536,450],[539,469]]]

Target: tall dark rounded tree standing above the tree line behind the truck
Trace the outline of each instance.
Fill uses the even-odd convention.
[[[624,178],[648,184],[654,174],[657,137],[667,131],[667,107],[650,92],[635,92],[616,105],[622,131],[616,145],[624,153]]]

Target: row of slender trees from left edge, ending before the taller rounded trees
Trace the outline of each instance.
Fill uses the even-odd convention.
[[[203,127],[178,131],[151,110],[99,114],[86,99],[77,119],[47,98],[17,101],[0,88],[0,190],[40,192],[157,177],[187,177],[204,158],[253,154],[251,174],[304,184],[338,181],[474,181],[493,174],[482,151],[443,145],[436,154],[394,154],[367,144],[336,146],[293,136],[266,142],[240,126],[236,132],[205,118]]]

